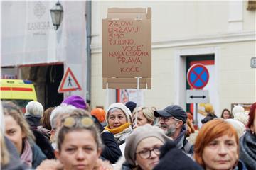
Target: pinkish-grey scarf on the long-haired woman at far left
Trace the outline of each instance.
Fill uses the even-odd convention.
[[[33,152],[31,149],[31,145],[28,142],[28,140],[23,140],[24,142],[24,147],[23,147],[23,152],[21,154],[21,160],[25,162],[29,167],[32,167],[32,160],[33,160]]]

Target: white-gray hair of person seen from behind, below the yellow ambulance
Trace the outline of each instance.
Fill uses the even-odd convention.
[[[28,102],[28,104],[26,105],[26,114],[34,115],[41,118],[43,116],[42,104],[37,101]]]

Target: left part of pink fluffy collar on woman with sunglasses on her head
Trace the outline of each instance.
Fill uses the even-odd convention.
[[[55,159],[46,159],[39,166],[36,167],[36,170],[63,170],[63,164],[60,161]]]

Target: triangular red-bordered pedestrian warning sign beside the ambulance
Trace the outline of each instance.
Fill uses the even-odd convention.
[[[78,91],[82,90],[78,80],[75,79],[75,76],[71,69],[68,67],[65,72],[63,79],[61,79],[60,86],[58,88],[58,93],[64,93],[67,91]]]

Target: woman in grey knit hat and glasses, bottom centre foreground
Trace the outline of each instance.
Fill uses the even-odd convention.
[[[125,158],[119,159],[114,169],[151,170],[159,163],[160,147],[171,138],[160,128],[149,124],[136,128],[126,140]]]

